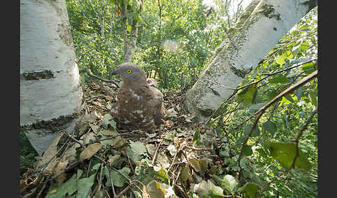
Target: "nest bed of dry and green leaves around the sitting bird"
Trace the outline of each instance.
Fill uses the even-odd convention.
[[[83,84],[83,93],[89,114],[22,175],[21,197],[221,197],[239,188],[222,167],[223,135],[197,129],[182,92],[164,93],[167,120],[151,134],[116,129],[114,85]]]

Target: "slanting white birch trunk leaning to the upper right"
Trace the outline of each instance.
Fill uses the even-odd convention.
[[[316,5],[313,0],[253,0],[218,46],[196,84],[187,91],[187,110],[196,113],[197,121],[211,116],[233,92],[225,87],[236,88],[279,39]]]

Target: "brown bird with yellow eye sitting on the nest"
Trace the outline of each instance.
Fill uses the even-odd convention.
[[[163,123],[163,94],[153,78],[146,79],[145,71],[131,62],[120,64],[112,75],[119,75],[123,80],[117,92],[116,106],[111,109],[117,126],[155,129]]]

